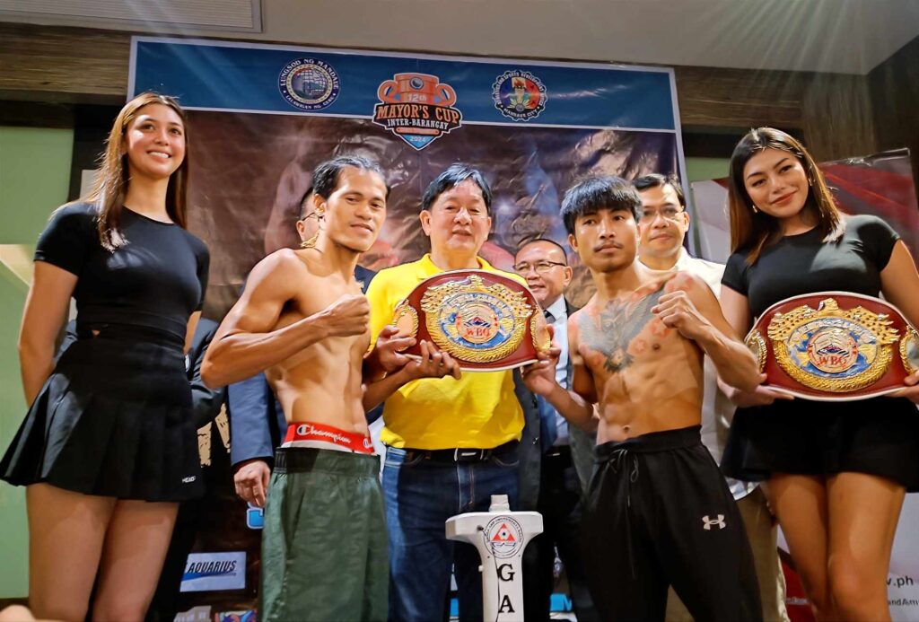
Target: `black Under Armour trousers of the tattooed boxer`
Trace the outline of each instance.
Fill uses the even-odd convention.
[[[761,620],[743,522],[699,427],[596,447],[582,527],[604,619],[663,620],[667,586],[697,620]]]

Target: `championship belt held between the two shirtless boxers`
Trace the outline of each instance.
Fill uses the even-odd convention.
[[[517,368],[550,347],[546,318],[533,293],[513,278],[486,270],[453,270],[426,278],[396,305],[392,323],[421,354],[424,339],[467,371]]]

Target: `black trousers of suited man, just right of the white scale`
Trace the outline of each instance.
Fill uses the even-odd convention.
[[[581,559],[581,483],[569,447],[553,447],[539,468],[539,501],[543,531],[524,551],[524,614],[527,620],[548,620],[555,588],[555,548],[564,564],[578,622],[599,620],[584,577]]]

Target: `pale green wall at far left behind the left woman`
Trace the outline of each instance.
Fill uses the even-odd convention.
[[[73,130],[0,127],[0,244],[33,245],[51,210],[67,200]],[[0,451],[26,413],[17,334],[26,284],[0,265]],[[28,595],[25,491],[0,482],[0,598]]]

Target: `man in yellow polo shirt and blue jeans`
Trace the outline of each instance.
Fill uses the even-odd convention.
[[[464,164],[450,166],[431,182],[420,216],[431,252],[380,271],[370,283],[373,339],[392,322],[396,304],[425,278],[468,268],[498,272],[478,256],[492,227],[491,204],[482,174]],[[511,507],[516,505],[524,415],[513,374],[467,372],[459,380],[408,382],[386,400],[383,422],[390,620],[444,619],[454,563],[459,619],[481,619],[479,555],[468,545],[454,549],[444,522],[463,512],[487,511],[492,494],[507,494]]]

